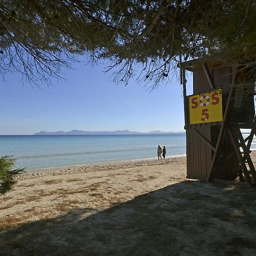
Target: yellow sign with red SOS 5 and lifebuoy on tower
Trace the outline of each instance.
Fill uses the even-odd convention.
[[[221,90],[190,96],[189,117],[191,125],[222,121]]]

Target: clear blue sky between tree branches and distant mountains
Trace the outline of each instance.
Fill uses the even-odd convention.
[[[179,82],[149,92],[135,80],[115,84],[104,67],[74,64],[63,82],[22,85],[20,75],[1,81],[0,135],[38,131],[182,131],[183,98]],[[188,92],[191,76],[188,77]]]

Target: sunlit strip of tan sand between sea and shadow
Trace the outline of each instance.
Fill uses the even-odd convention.
[[[72,208],[105,209],[184,179],[185,158],[23,174],[1,197],[1,225],[11,226],[8,220],[16,217],[16,224],[52,218]]]

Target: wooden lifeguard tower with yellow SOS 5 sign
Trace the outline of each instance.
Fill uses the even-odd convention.
[[[255,134],[255,71],[210,59],[179,64],[184,93],[187,177],[202,181],[236,180],[253,185],[250,157]],[[193,94],[186,94],[186,71],[193,73]],[[243,138],[240,129],[250,129]]]

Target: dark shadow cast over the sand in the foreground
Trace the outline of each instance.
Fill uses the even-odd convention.
[[[255,192],[183,181],[100,212],[72,209],[5,230],[0,254],[255,255]]]

